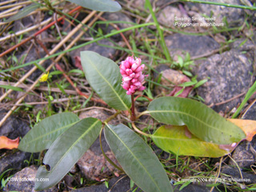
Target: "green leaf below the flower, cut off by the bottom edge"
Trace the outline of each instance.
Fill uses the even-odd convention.
[[[162,164],[138,134],[123,124],[107,125],[104,134],[122,169],[143,191],[173,191]]]

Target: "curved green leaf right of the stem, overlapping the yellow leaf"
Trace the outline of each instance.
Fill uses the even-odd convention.
[[[201,102],[189,98],[157,98],[150,102],[148,110],[158,122],[186,125],[192,134],[205,142],[229,145],[246,138],[238,126]]]

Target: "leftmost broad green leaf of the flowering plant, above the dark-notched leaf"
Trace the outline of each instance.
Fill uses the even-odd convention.
[[[79,120],[76,114],[70,112],[45,118],[22,138],[18,149],[30,153],[46,150],[60,134]]]

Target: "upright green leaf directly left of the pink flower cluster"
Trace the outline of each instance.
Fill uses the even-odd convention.
[[[116,110],[130,110],[130,95],[122,89],[118,65],[93,51],[81,52],[82,68],[95,92]]]

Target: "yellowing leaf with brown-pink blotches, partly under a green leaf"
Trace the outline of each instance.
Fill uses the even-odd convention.
[[[230,154],[235,148],[230,146],[223,150],[222,146],[204,142],[186,131],[186,126],[161,126],[151,138],[162,150],[178,155],[218,158]]]

